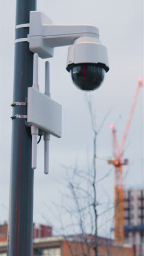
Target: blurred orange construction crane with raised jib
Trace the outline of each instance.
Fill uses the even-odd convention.
[[[123,188],[123,165],[128,165],[128,159],[123,159],[125,141],[128,136],[131,120],[133,118],[137,98],[139,96],[142,79],[139,78],[139,83],[136,89],[133,104],[131,106],[127,125],[125,127],[122,142],[119,145],[114,125],[111,125],[113,132],[113,154],[114,157],[108,159],[109,164],[115,166],[115,240],[119,243],[124,242],[124,188]]]

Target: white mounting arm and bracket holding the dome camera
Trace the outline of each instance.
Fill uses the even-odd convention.
[[[42,59],[53,56],[53,48],[71,45],[80,37],[98,39],[99,30],[91,25],[52,25],[41,11],[31,11],[28,42],[29,49]]]

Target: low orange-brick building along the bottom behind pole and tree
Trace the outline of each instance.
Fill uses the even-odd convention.
[[[104,239],[104,243],[102,243]],[[99,237],[99,256],[134,256],[131,246],[122,247],[107,243],[106,238]],[[0,242],[0,256],[7,256],[7,242]],[[85,242],[65,240],[64,237],[53,236],[34,238],[33,256],[83,256],[94,255],[93,249],[88,252]]]

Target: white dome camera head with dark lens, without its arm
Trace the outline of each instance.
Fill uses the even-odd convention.
[[[98,38],[81,37],[69,47],[67,71],[83,91],[97,90],[109,71],[107,50]]]

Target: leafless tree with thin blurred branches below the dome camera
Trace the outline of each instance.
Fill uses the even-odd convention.
[[[65,193],[62,192],[61,206],[53,203],[56,206],[56,211],[53,211],[52,214],[61,225],[61,230],[58,230],[57,234],[60,233],[64,236],[71,255],[98,256],[98,247],[103,244],[107,255],[110,256],[113,241],[111,239],[111,227],[106,225],[114,222],[115,203],[104,188],[106,203],[98,200],[99,193],[97,193],[98,184],[101,184],[104,179],[109,177],[113,170],[112,166],[103,177],[97,178],[97,160],[99,159],[97,155],[97,138],[110,110],[106,113],[99,127],[97,127],[92,101],[89,98],[87,98],[87,106],[93,134],[91,157],[89,157],[88,153],[86,154],[87,166],[85,167],[80,167],[78,160],[72,167],[62,165],[65,170],[64,179],[67,189],[65,189]],[[127,173],[125,174],[126,176]],[[103,210],[101,210],[102,208]],[[103,216],[103,221],[98,226],[98,219],[101,216]],[[103,227],[105,229],[105,237],[109,238],[100,240],[98,238],[98,229]],[[70,235],[70,233],[73,235]],[[77,242],[78,247],[81,245],[81,251],[79,249],[76,251],[76,244],[74,248],[71,240]],[[117,253],[121,255],[121,250],[118,250]]]

